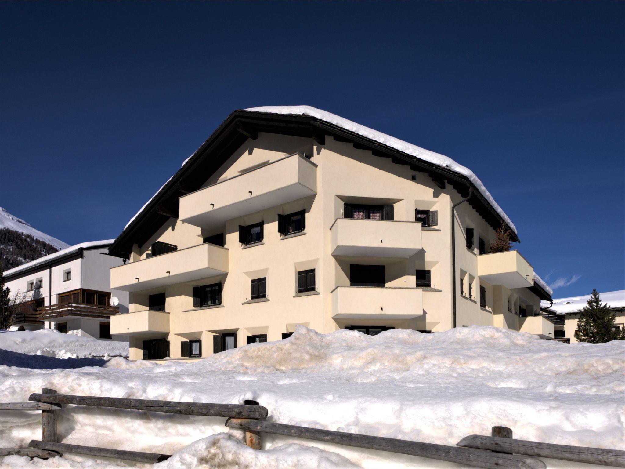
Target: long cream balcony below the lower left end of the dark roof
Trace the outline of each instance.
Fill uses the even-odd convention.
[[[140,291],[228,271],[228,250],[205,243],[111,269],[111,288]]]

